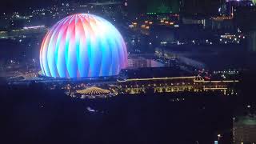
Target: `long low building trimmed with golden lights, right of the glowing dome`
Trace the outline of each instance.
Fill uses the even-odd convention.
[[[237,94],[234,85],[237,80],[206,81],[200,76],[173,78],[129,78],[118,80],[112,90],[118,94],[177,93],[215,91],[225,95]]]

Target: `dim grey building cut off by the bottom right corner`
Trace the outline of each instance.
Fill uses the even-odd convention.
[[[256,142],[256,116],[248,115],[234,119],[234,144]]]

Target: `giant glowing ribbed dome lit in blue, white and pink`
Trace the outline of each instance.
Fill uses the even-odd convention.
[[[126,44],[108,21],[74,14],[55,24],[40,50],[42,74],[57,78],[117,75],[127,65]]]

